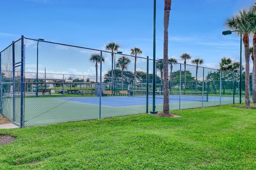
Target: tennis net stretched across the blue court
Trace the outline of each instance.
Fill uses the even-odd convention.
[[[146,98],[146,90],[129,90],[130,96]],[[148,91],[148,98],[153,98],[152,91]],[[164,98],[163,91],[156,91],[155,98]],[[188,100],[208,102],[208,92],[169,92],[170,100]]]

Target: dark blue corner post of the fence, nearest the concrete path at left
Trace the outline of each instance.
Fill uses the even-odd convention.
[[[20,127],[24,126],[24,35],[21,36],[21,70],[20,70]]]

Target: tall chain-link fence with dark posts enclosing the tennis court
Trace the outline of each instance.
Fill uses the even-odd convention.
[[[148,58],[23,37],[0,57],[1,113],[21,127],[162,111],[162,60],[153,75]],[[240,102],[239,73],[169,66],[171,110]]]

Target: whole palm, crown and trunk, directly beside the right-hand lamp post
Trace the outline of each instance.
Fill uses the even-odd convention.
[[[228,29],[235,31],[237,35],[243,34],[245,52],[245,105],[250,106],[250,47],[249,34],[255,26],[254,10],[242,10],[238,14],[228,18],[225,22]]]

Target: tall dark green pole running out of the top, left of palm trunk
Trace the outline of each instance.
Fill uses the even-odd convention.
[[[152,114],[156,114],[156,0],[154,0],[154,23],[153,23],[153,111]]]

